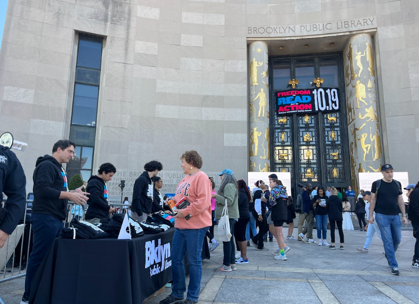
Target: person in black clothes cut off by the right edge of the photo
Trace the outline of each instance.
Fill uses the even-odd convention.
[[[409,189],[405,189],[409,193],[409,220],[412,223],[413,236],[416,239],[412,267],[419,268],[419,182],[414,188],[412,185],[406,187]]]

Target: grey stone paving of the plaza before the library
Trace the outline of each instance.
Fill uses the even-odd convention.
[[[217,229],[216,229],[217,230]],[[283,228],[287,234],[287,228]],[[296,237],[296,229],[294,230]],[[330,242],[329,231],[328,241]],[[316,230],[314,231],[316,234]],[[336,233],[337,236],[337,233]],[[248,248],[249,263],[238,265],[234,272],[214,272],[222,263],[222,244],[203,261],[201,304],[392,304],[419,303],[419,269],[412,268],[416,239],[412,231],[402,231],[396,252],[400,276],[390,274],[383,246],[376,236],[370,252],[362,247],[366,232],[345,231],[345,250],[288,241],[288,261],[276,261],[271,252],[276,242],[268,242],[268,252]],[[187,278],[188,279],[188,278]],[[6,304],[18,304],[24,292],[25,279],[0,283],[0,294]],[[86,287],[89,283],[86,282]],[[149,299],[158,304],[171,288]],[[186,296],[186,295],[185,295]]]

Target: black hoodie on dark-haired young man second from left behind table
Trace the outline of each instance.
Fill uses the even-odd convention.
[[[90,193],[90,195],[87,195],[89,197],[87,201],[89,208],[86,211],[85,218],[109,217],[111,206],[108,204],[108,191],[104,180],[97,175],[91,176],[87,182],[86,192]]]

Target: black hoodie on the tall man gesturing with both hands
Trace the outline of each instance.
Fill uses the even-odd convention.
[[[33,172],[32,213],[65,220],[68,199],[59,198],[61,191],[68,191],[61,164],[49,155],[38,157]]]

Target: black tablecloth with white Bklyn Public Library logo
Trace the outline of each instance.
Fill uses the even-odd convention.
[[[174,228],[132,240],[55,239],[29,303],[141,304],[172,280],[173,234]]]

